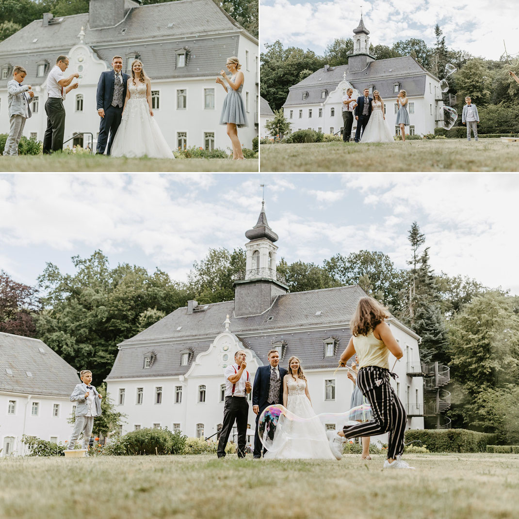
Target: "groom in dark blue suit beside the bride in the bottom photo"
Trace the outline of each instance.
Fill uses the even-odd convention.
[[[261,441],[258,435],[259,417],[263,409],[271,404],[283,403],[283,377],[288,373],[279,367],[280,354],[270,350],[267,354],[269,364],[260,366],[254,376],[252,388],[252,411],[256,414],[256,432],[254,433],[254,457],[261,458]],[[263,449],[263,454],[267,449]]]

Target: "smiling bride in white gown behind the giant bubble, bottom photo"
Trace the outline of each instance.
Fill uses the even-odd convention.
[[[298,422],[281,417],[272,447],[264,458],[322,458],[335,459],[321,420],[310,401],[308,381],[297,357],[290,357],[288,374],[283,378],[283,405],[299,418],[315,418]]]

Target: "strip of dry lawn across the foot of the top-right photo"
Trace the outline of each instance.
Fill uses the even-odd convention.
[[[518,171],[519,143],[442,139],[262,144],[261,171]]]

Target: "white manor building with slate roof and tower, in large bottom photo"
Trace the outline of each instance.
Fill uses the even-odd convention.
[[[278,237],[263,209],[246,237],[246,271],[237,276],[234,301],[189,301],[118,345],[106,380],[117,411],[127,415],[123,432],[168,427],[198,438],[216,434],[223,419],[223,370],[238,349],[247,353],[253,383],[258,366],[268,362],[267,352],[276,348],[282,366],[292,355],[301,360],[316,413],[349,409],[353,384],[345,369],[335,370],[351,337],[350,318],[365,292],[354,285],[288,293],[276,272]],[[407,408],[407,428],[423,428],[421,369],[418,376],[409,375],[420,366],[419,337],[394,318],[389,325],[405,352],[392,384]],[[394,360],[390,354],[390,366]],[[254,443],[251,403],[248,423],[247,441]]]

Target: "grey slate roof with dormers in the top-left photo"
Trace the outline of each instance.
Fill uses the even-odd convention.
[[[41,85],[47,74],[36,77],[37,63],[46,60],[54,66],[59,54],[66,54],[79,43],[77,35],[83,27],[85,45],[108,63],[115,54],[125,57],[138,53],[152,79],[208,76],[216,74],[218,67],[223,68],[225,59],[237,54],[239,37],[246,33],[212,0],[178,0],[136,7],[122,23],[110,28],[90,29],[88,17],[88,13],[65,16],[62,22],[46,27],[42,20],[31,22],[0,42],[0,66],[20,64],[28,72],[25,83]],[[169,28],[169,23],[174,25]],[[132,42],[135,45],[128,46]],[[185,46],[187,64],[176,70],[176,51]],[[6,85],[7,80],[0,81],[0,88]]]

